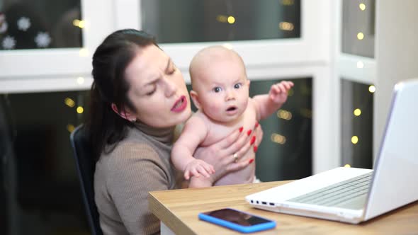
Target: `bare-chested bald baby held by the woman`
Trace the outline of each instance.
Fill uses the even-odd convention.
[[[230,134],[233,130],[252,130],[259,120],[273,114],[286,102],[291,81],[282,81],[270,88],[269,94],[249,98],[249,83],[241,57],[225,47],[212,46],[200,50],[190,65],[190,96],[198,108],[186,122],[183,132],[171,151],[174,166],[190,178],[189,187],[252,183],[255,180],[255,153],[239,156],[249,161],[246,168],[228,173],[212,183],[208,176],[214,168],[205,161],[195,159],[198,147],[205,147]],[[251,131],[245,132],[251,134]],[[255,136],[252,137],[254,143]],[[237,161],[236,154],[234,155]],[[205,177],[199,177],[201,175]],[[194,176],[194,177],[191,177]]]

